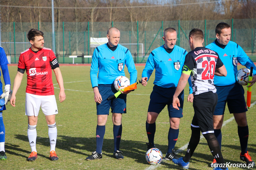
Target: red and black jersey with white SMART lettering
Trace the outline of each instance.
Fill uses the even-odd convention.
[[[50,61],[55,58],[50,48],[42,48],[37,53],[29,48],[20,54],[18,68],[26,69],[26,93],[54,95]]]

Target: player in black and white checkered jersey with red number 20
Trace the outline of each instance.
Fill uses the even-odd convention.
[[[203,47],[203,31],[192,29],[189,33],[190,51],[184,62],[182,75],[179,79],[173,96],[173,107],[179,109],[178,95],[185,88],[187,79],[190,77],[193,88],[194,117],[191,123],[191,138],[183,158],[173,159],[175,164],[185,169],[189,167],[189,161],[200,140],[200,131],[206,138],[208,146],[217,163],[218,169],[228,169],[224,163],[220,145],[214,136],[213,113],[217,104],[218,96],[214,87],[214,75],[226,76],[227,70],[215,51]]]

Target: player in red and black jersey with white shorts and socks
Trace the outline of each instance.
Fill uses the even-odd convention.
[[[27,73],[26,104],[25,113],[28,116],[28,141],[31,146],[31,154],[28,161],[37,158],[36,151],[36,124],[38,112],[41,107],[48,125],[50,138],[50,160],[58,160],[55,153],[57,139],[57,128],[55,114],[58,114],[52,80],[52,70],[55,73],[60,86],[59,100],[63,102],[66,98],[63,79],[58,61],[50,48],[44,48],[44,33],[31,29],[28,32],[28,40],[31,48],[20,54],[18,72],[14,79],[12,97],[10,103],[15,107],[16,93],[20,87],[23,74]]]

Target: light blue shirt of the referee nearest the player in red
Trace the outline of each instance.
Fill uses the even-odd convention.
[[[97,87],[98,84],[112,84],[118,76],[125,76],[125,65],[130,74],[130,83],[133,84],[137,80],[137,70],[131,52],[120,44],[115,51],[110,50],[106,44],[96,47],[90,69],[92,87]]]

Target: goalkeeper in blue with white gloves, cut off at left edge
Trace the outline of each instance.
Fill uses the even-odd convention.
[[[12,91],[11,91],[11,81],[10,81],[10,76],[9,76],[9,71],[8,71],[8,60],[5,55],[4,49],[0,47],[0,65],[4,77],[4,93],[2,90],[2,82],[0,80],[0,93],[3,93],[0,98],[4,98],[5,104],[10,100]],[[1,73],[0,73],[1,76]],[[5,143],[5,127],[4,127],[4,122],[3,122],[3,110],[6,110],[5,105],[0,106],[0,160],[6,160],[7,156],[5,154],[4,150],[4,143]]]

